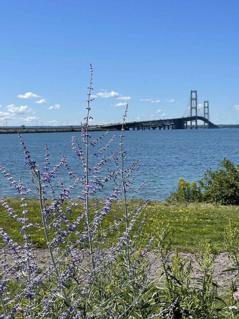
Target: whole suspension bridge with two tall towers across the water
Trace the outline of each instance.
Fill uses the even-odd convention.
[[[185,113],[189,110],[187,106]],[[199,114],[198,114],[199,111]],[[184,113],[184,115],[185,115]],[[219,129],[220,127],[215,125],[209,120],[209,102],[204,101],[203,114],[199,108],[197,91],[191,91],[190,94],[190,114],[188,116],[182,116],[180,118],[161,119],[161,120],[147,120],[147,121],[134,121],[126,122],[125,130],[165,130],[166,128],[172,130],[179,129],[197,129],[198,121],[202,121],[203,128],[207,129]],[[97,128],[104,130],[121,130],[121,123],[106,124],[100,126],[91,127],[91,130],[97,130]]]

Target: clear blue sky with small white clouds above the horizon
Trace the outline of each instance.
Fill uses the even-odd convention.
[[[239,123],[239,2],[8,0],[0,11],[0,126],[80,125],[189,114]],[[199,105],[200,107],[200,105]],[[186,113],[185,113],[186,111]],[[6,121],[7,120],[7,121]]]

